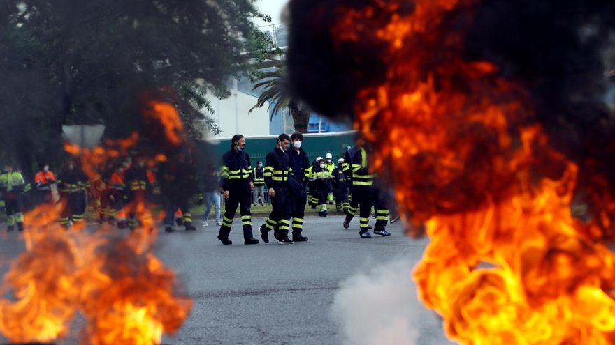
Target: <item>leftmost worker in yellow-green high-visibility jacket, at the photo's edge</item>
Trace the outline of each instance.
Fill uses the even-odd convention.
[[[25,185],[22,174],[13,170],[13,164],[6,162],[0,174],[0,191],[6,207],[6,231],[13,231],[15,224],[19,231],[24,230],[21,194]]]

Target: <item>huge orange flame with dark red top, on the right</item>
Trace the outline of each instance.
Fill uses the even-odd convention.
[[[615,256],[600,219],[572,216],[579,167],[534,124],[527,92],[440,27],[477,1],[368,2],[338,6],[331,33],[340,50],[382,47],[386,75],[357,92],[354,125],[406,224],[426,225],[407,230],[431,239],[421,300],[460,344],[613,344]]]

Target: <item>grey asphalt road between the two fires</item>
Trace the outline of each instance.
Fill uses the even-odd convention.
[[[237,219],[230,236],[233,245],[220,245],[216,238],[218,227],[212,222],[209,227],[200,227],[198,222],[198,231],[194,232],[162,232],[157,254],[178,273],[194,298],[191,315],[178,334],[164,337],[164,344],[356,344],[349,334],[352,338],[354,333],[371,327],[377,331],[370,317],[377,312],[370,308],[384,309],[379,296],[389,300],[396,294],[412,296],[410,270],[420,259],[426,240],[404,236],[401,222],[389,225],[389,237],[359,238],[358,219],[353,220],[350,229],[342,228],[342,220],[339,216],[307,217],[304,235],[310,240],[292,245],[262,241],[259,245],[244,245]],[[263,218],[253,219],[255,233],[263,222]],[[22,250],[17,233],[0,239],[3,259],[15,257]],[[349,278],[357,274],[375,277],[381,268],[400,260],[403,265],[393,265],[393,269],[403,278],[397,284],[407,287],[377,287],[376,292],[350,297],[350,303],[344,304],[343,296],[352,296],[348,293],[361,289],[349,283]],[[4,269],[6,266],[0,273]],[[346,286],[345,295],[340,292],[342,286]],[[379,317],[388,319],[388,315],[396,313],[395,308],[410,309],[404,315],[412,319],[410,325],[417,335],[414,340],[396,336],[386,344],[442,344],[437,318],[422,310],[414,296],[411,298],[414,302],[407,305],[393,300],[393,309]],[[370,307],[370,303],[374,306]],[[348,310],[333,314],[333,304]],[[367,306],[362,310],[365,317],[354,312],[355,305]],[[359,317],[359,321],[345,324],[342,320],[353,317]],[[389,325],[389,321],[381,321]],[[0,337],[0,343],[2,340]],[[75,339],[59,342],[75,343]],[[363,343],[380,342],[364,339]]]

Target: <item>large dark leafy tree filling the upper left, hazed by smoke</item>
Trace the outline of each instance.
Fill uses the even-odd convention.
[[[255,16],[268,19],[253,0],[2,1],[0,144],[49,157],[62,124],[126,136],[147,98],[173,102],[200,137],[205,94],[228,95],[258,49]]]

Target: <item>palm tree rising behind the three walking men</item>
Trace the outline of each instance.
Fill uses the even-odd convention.
[[[286,68],[282,67],[277,68],[273,72],[261,73],[256,78],[256,81],[254,90],[262,86],[265,91],[261,93],[259,99],[256,100],[256,105],[249,111],[252,112],[253,109],[263,107],[266,102],[269,102],[268,109],[273,110],[271,112],[271,118],[273,118],[273,114],[288,107],[291,116],[293,116],[295,130],[301,133],[307,132],[307,121],[310,120],[310,111],[303,102],[300,102],[290,94],[290,84]]]

